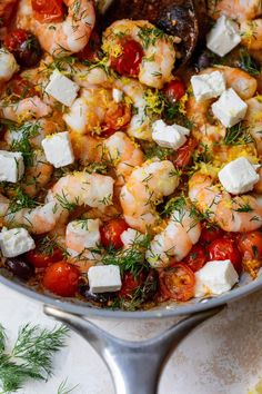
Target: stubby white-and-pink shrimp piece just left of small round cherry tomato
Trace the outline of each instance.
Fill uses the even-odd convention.
[[[84,249],[100,244],[99,219],[83,219],[70,221],[66,232],[68,248],[82,253]]]

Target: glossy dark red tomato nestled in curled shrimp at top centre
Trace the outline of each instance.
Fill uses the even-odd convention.
[[[111,58],[111,67],[123,76],[137,76],[143,58],[143,48],[132,39],[122,45],[122,53]]]

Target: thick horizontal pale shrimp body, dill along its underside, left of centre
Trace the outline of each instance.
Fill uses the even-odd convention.
[[[105,207],[112,204],[113,179],[100,174],[73,173],[60,178],[49,193],[63,209],[75,206]]]

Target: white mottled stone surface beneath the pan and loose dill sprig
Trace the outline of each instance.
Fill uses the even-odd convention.
[[[32,322],[53,326],[41,305],[0,286],[0,322],[14,341],[18,327]],[[95,321],[110,333],[133,339],[152,336],[172,324],[158,322]],[[79,384],[74,394],[113,394],[111,377],[94,351],[71,333],[68,346],[54,359],[48,383],[29,383],[20,393],[57,394],[68,377]],[[160,394],[248,394],[262,377],[262,292],[231,304],[226,311],[196,328],[171,356],[160,381]]]

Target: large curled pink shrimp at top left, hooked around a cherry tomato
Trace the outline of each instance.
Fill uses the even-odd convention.
[[[91,0],[63,0],[68,16],[62,22],[40,23],[33,18],[30,0],[22,0],[18,10],[17,24],[31,30],[41,47],[53,56],[64,56],[81,51],[88,43],[95,22],[94,6]]]

